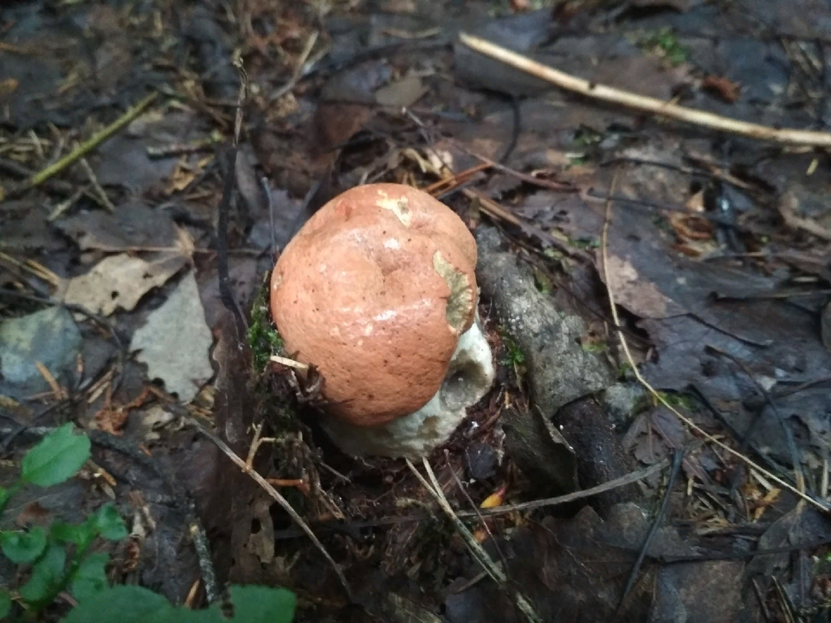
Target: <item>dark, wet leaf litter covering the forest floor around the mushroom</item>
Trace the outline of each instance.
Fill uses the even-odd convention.
[[[20,21],[20,7],[30,4],[34,22]],[[526,267],[520,273],[529,292],[552,304],[548,315],[565,327],[568,344],[537,361],[539,336],[509,322],[499,287],[483,287],[489,339],[509,365],[447,454],[430,457],[455,513],[478,527],[471,503],[495,491],[504,489],[509,505],[556,496],[660,467],[673,451],[686,451],[683,478],[656,518],[657,540],[623,601],[666,486],[661,473],[621,488],[625,499],[594,496],[588,506],[578,499],[484,518],[493,535],[484,537],[487,555],[507,563],[508,586],[523,587],[536,616],[740,621],[764,613],[770,621],[807,621],[828,610],[823,513],[686,429],[654,398],[627,392],[626,409],[609,419],[593,397],[612,381],[632,385],[621,329],[662,400],[771,473],[801,473],[799,486],[826,500],[831,356],[822,152],[597,105],[472,52],[457,37],[469,32],[593,83],[713,115],[776,130],[821,129],[827,9],[804,2],[799,12],[783,0],[741,11],[638,2],[615,13],[569,2],[552,13],[523,12],[521,4],[492,17],[443,4],[364,12],[336,3],[322,20],[267,2],[228,11],[151,2],[134,14],[106,5],[61,8],[86,20],[87,38],[37,3],[2,9],[12,46],[2,62],[17,83],[2,91],[10,116],[0,159],[12,161],[0,162],[4,189],[66,154],[78,135],[109,124],[148,86],[165,96],[89,155],[92,175],[72,167],[0,204],[0,287],[32,297],[0,296],[3,316],[62,301],[76,306],[73,322],[85,343],[109,327],[133,351],[130,361],[105,353],[103,365],[92,365],[88,349],[70,349],[55,370],[45,368],[55,385],[44,377],[40,394],[4,389],[0,409],[14,424],[39,426],[60,407],[92,432],[101,426],[150,453],[143,464],[126,446],[92,437],[96,463],[130,474],[132,492],[118,481],[101,491],[115,496],[141,535],[134,545],[144,552],[135,558],[144,565],[143,584],[197,605],[207,593],[192,582],[209,577],[207,561],[222,582],[288,586],[301,598],[298,621],[529,616],[514,592],[494,590],[479,576],[475,557],[403,464],[339,454],[313,412],[294,404],[285,370],[255,370],[252,354],[240,349],[251,327],[231,320],[216,285],[214,224],[227,163],[211,138],[216,132],[227,140],[232,128],[239,82],[229,59],[237,49],[254,87],[225,249],[239,307],[257,307],[274,253],[309,213],[339,190],[383,180],[440,184],[471,228],[484,235],[496,226],[494,253]],[[239,15],[229,19],[229,11]],[[169,26],[174,13],[182,32]],[[796,17],[804,15],[811,19]],[[136,29],[142,36],[131,38]],[[37,46],[49,37],[63,65],[38,65]],[[81,45],[91,56],[77,52]],[[37,80],[36,65],[45,68]],[[56,106],[39,103],[50,98]],[[484,167],[460,175],[477,164]],[[17,173],[7,178],[7,171]],[[104,324],[91,316],[99,314]],[[510,331],[520,335],[512,339]],[[528,351],[524,361],[518,347]],[[575,364],[583,359],[588,367]],[[578,380],[546,372],[557,365],[571,365]],[[589,387],[589,376],[604,381]],[[20,401],[13,409],[9,397]],[[194,421],[298,509],[347,570],[351,603],[321,552]],[[268,440],[251,452],[252,430],[260,430],[254,424],[265,426]],[[8,439],[2,448],[19,457],[29,438]],[[490,449],[488,469],[470,471],[471,447]],[[171,492],[182,496],[178,505],[157,503]],[[55,503],[44,508],[56,517],[79,513],[100,495],[57,487]],[[186,526],[196,525],[191,499],[213,556],[182,541]],[[138,572],[117,571],[122,578]]]

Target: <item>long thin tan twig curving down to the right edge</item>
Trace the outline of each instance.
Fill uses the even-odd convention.
[[[612,176],[612,184],[611,184],[611,188],[609,189],[609,194],[610,195],[614,194],[614,186],[615,186],[616,181],[617,181],[617,170],[615,171],[615,174]],[[606,277],[606,292],[607,292],[607,297],[609,298],[609,307],[612,310],[612,318],[615,321],[615,327],[618,327],[621,324],[620,315],[617,313],[617,305],[615,304],[615,295],[614,295],[614,292],[612,290],[612,279],[611,279],[611,275],[608,272],[608,265],[609,265],[608,264],[609,223],[611,223],[611,222],[612,222],[612,201],[607,201],[607,203],[606,203],[606,218],[603,222],[601,256],[602,256],[602,264],[603,264],[603,273],[604,273],[604,276]],[[729,454],[732,454],[733,456],[735,456],[736,459],[739,459],[744,464],[746,464],[748,467],[755,469],[757,472],[764,475],[765,478],[770,478],[770,480],[773,480],[774,483],[778,483],[780,486],[788,489],[791,493],[794,493],[795,495],[799,496],[799,498],[802,498],[806,502],[812,504],[814,507],[819,508],[819,510],[822,511],[823,513],[829,513],[829,510],[831,510],[831,508],[829,508],[829,506],[827,504],[825,504],[823,502],[820,502],[819,500],[815,500],[814,498],[811,498],[806,493],[804,493],[802,491],[799,491],[799,489],[794,487],[794,485],[792,485],[791,483],[785,482],[782,478],[779,478],[779,476],[776,476],[774,473],[770,473],[767,469],[763,468],[760,464],[755,463],[754,461],[752,461],[748,457],[746,457],[744,454],[741,454],[737,450],[730,448],[729,445],[721,442],[719,439],[716,439],[713,435],[708,433],[705,429],[702,429],[701,426],[699,426],[698,424],[693,422],[690,418],[686,417],[686,415],[682,415],[679,410],[677,410],[674,406],[672,406],[669,403],[668,400],[666,400],[666,397],[664,397],[658,391],[656,391],[656,389],[654,387],[652,387],[652,385],[649,384],[649,381],[647,381],[643,377],[643,375],[641,374],[641,370],[638,370],[637,363],[635,363],[635,358],[632,356],[632,352],[629,351],[629,343],[627,342],[626,336],[623,334],[623,331],[621,331],[620,329],[616,328],[615,330],[617,331],[617,336],[620,338],[621,347],[623,349],[623,352],[626,354],[627,361],[629,362],[629,365],[632,367],[632,372],[634,373],[635,378],[637,378],[638,382],[641,385],[643,385],[650,394],[652,394],[652,396],[655,398],[655,400],[660,402],[661,405],[664,405],[668,410],[671,410],[671,412],[674,413],[678,419],[680,419],[684,424],[686,424],[688,427],[690,427],[690,429],[696,431],[697,434],[700,434],[701,437],[704,437],[705,439],[707,439],[707,441],[711,442],[711,444],[715,444],[720,449],[723,449],[725,452],[727,452]]]

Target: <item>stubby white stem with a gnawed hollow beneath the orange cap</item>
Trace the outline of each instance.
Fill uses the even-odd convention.
[[[493,381],[493,356],[477,318],[460,337],[439,391],[415,413],[373,427],[348,424],[332,415],[324,415],[321,424],[347,454],[418,459],[450,438],[467,408],[488,393]]]

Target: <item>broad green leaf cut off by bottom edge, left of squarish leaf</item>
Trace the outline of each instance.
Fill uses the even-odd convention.
[[[81,601],[63,623],[161,623],[175,621],[175,608],[141,586],[113,586]]]

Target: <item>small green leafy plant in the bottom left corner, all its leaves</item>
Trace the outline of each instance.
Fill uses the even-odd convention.
[[[90,458],[90,439],[64,424],[30,449],[21,461],[20,478],[9,488],[0,487],[0,518],[8,501],[24,486],[51,487],[74,476]],[[265,586],[230,586],[234,618],[223,615],[216,604],[203,611],[170,605],[165,597],[140,586],[110,587],[106,566],[110,555],[90,552],[96,538],[119,541],[127,536],[124,521],[111,503],[91,513],[84,522],[54,521],[48,527],[0,530],[0,551],[22,567],[27,580],[14,591],[0,587],[0,619],[12,612],[12,597],[27,621],[40,613],[62,592],[78,602],[64,623],[289,623],[297,598],[292,591]]]

